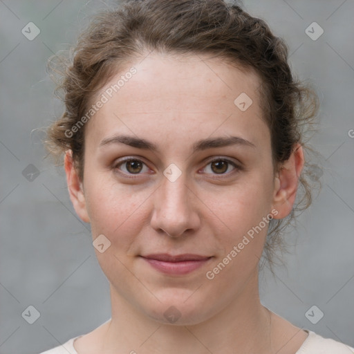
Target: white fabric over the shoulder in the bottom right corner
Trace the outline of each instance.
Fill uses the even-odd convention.
[[[312,330],[296,354],[354,354],[354,348],[334,339],[324,338]]]

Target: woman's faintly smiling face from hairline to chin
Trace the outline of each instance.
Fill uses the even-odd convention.
[[[270,218],[286,213],[259,77],[201,58],[151,53],[106,83],[97,99],[136,68],[86,124],[71,194],[104,235],[95,252],[113,295],[160,322],[170,306],[196,324],[232,304],[257,277]]]

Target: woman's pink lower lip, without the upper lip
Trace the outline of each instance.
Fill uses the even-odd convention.
[[[200,268],[202,265],[207,263],[207,261],[209,261],[209,259],[211,259],[212,257],[201,259],[198,261],[180,261],[180,262],[165,262],[165,261],[158,261],[157,259],[150,259],[144,257],[142,258],[145,259],[145,261],[147,261],[147,263],[149,263],[153,268],[159,270],[162,273],[183,275],[183,274],[188,274],[190,272],[193,272],[193,270]]]

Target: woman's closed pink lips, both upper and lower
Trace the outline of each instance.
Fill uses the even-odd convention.
[[[149,254],[141,256],[153,268],[164,274],[183,275],[193,272],[207,263],[212,257],[201,256],[199,254]]]

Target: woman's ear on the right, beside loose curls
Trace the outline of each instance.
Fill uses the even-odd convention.
[[[304,168],[304,150],[297,143],[290,158],[283,162],[274,180],[274,196],[272,207],[277,210],[274,218],[285,218],[290,214],[295,203],[299,176]]]

